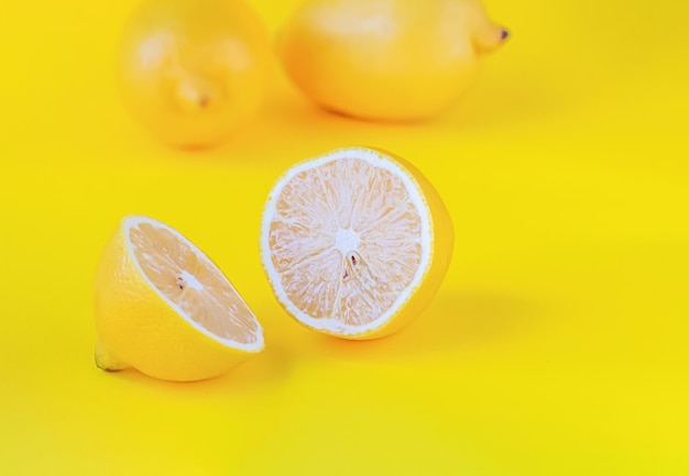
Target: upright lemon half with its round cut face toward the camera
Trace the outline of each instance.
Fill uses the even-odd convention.
[[[343,148],[292,167],[263,212],[262,262],[299,323],[346,339],[390,334],[437,292],[452,255],[450,217],[408,162]]]

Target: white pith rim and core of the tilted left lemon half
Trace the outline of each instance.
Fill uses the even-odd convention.
[[[141,267],[141,264],[136,259],[136,256],[135,256],[134,250],[133,250],[133,244],[131,243],[131,240],[130,240],[130,230],[138,228],[142,223],[147,223],[147,224],[151,224],[151,225],[153,225],[155,228],[167,230],[168,232],[174,234],[178,240],[181,240],[187,246],[189,246],[189,248],[196,254],[196,256],[199,259],[201,259],[204,263],[206,263],[208,266],[210,266],[212,268],[216,268],[216,269],[217,269],[217,266],[210,261],[210,258],[208,258],[208,256],[206,256],[206,254],[204,254],[204,252],[201,252],[196,245],[194,245],[194,243],[188,241],[179,232],[177,232],[176,230],[167,226],[166,224],[161,223],[161,222],[155,221],[155,220],[152,220],[152,219],[146,218],[146,217],[128,217],[123,221],[123,233],[124,233],[124,243],[125,243],[125,246],[127,246],[127,252],[129,253],[129,257],[132,259],[132,263],[136,267],[136,270],[139,272],[139,275],[141,276],[142,279],[144,279],[144,281],[149,285],[149,287],[154,292],[156,292],[161,297],[161,299],[163,299],[165,301],[165,303],[167,303],[171,308],[173,308],[175,310],[175,312],[177,312],[177,314],[179,314],[179,317],[182,317],[194,329],[196,329],[197,331],[201,332],[203,334],[205,334],[205,335],[211,337],[212,340],[215,340],[215,341],[217,341],[217,342],[219,342],[219,343],[221,343],[221,344],[223,344],[223,345],[226,345],[228,347],[231,347],[231,348],[238,348],[238,350],[242,350],[242,351],[245,351],[245,352],[259,352],[259,351],[261,351],[264,347],[263,329],[261,328],[261,324],[258,321],[255,321],[255,319],[254,319],[255,324],[256,324],[256,332],[255,332],[256,340],[255,340],[255,342],[243,343],[243,342],[238,342],[238,341],[232,340],[232,339],[227,339],[227,337],[223,337],[221,335],[217,335],[216,333],[214,333],[210,330],[206,329],[199,322],[195,321],[190,316],[188,316],[188,313],[186,311],[184,311],[179,306],[177,306],[175,302],[173,302],[167,296],[165,296],[164,292],[162,292],[161,290],[157,289],[155,284],[153,284],[153,281],[151,281],[149,279],[149,277],[146,276],[146,273],[143,270],[143,268]],[[145,256],[145,254],[144,254],[144,256]],[[225,275],[221,272],[220,272],[220,275],[222,276],[223,281],[231,289],[234,289],[234,287],[231,285],[231,283],[227,279],[227,277],[225,277]],[[198,290],[203,290],[204,289],[201,283],[192,273],[189,273],[188,270],[183,270],[181,278],[184,279],[184,284],[187,287],[195,288],[195,289],[198,289]],[[239,299],[244,305],[247,305],[243,301],[243,298],[239,294],[237,294],[237,296],[239,297]]]

